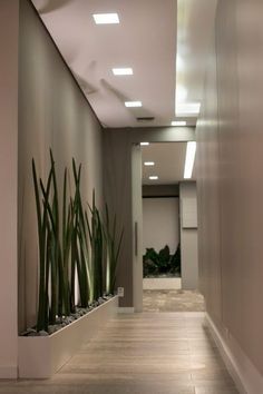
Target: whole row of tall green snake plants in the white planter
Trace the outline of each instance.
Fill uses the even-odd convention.
[[[62,196],[59,196],[51,149],[46,184],[38,178],[32,159],[39,243],[37,331],[48,331],[48,326],[56,323],[57,316],[68,316],[75,312],[76,305],[87,307],[104,295],[105,286],[106,293],[114,293],[123,232],[117,239],[116,216],[111,232],[107,206],[103,224],[96,207],[95,191],[91,206],[84,208],[80,193],[81,165],[77,167],[75,159],[72,175],[74,196],[68,194],[67,168],[64,171]]]

